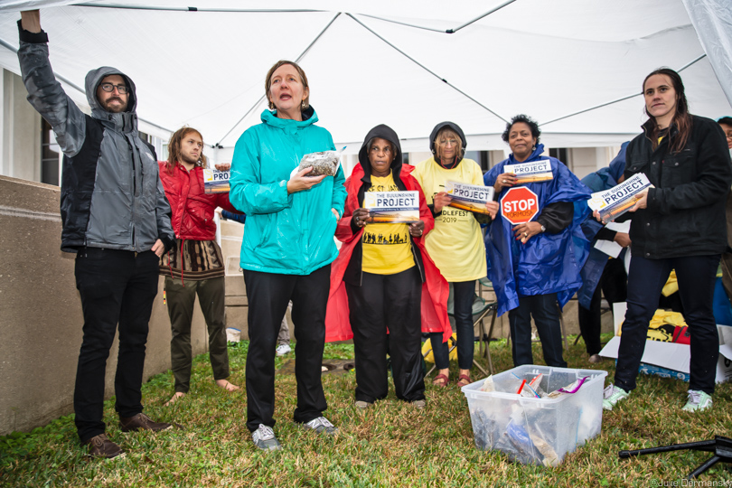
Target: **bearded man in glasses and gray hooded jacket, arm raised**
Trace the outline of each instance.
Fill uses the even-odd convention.
[[[137,134],[135,84],[114,68],[86,77],[91,116],[69,99],[48,59],[40,13],[23,12],[18,58],[31,102],[63,151],[61,250],[77,253],[75,276],[84,314],[74,389],[75,423],[95,457],[122,449],[102,421],[109,349],[119,324],[115,409],[123,431],[164,430],[142,413],[145,343],[158,288],[158,259],[174,241],[170,206],[152,146]]]

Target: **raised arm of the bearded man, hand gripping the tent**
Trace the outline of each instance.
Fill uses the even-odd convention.
[[[53,127],[61,151],[65,155],[77,155],[84,143],[86,118],[53,75],[48,59],[48,35],[41,29],[39,11],[22,12],[18,30],[18,60],[28,101]]]

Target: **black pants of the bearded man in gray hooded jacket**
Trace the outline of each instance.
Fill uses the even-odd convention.
[[[147,324],[157,295],[158,258],[115,249],[80,249],[76,287],[84,314],[84,338],[74,389],[76,428],[82,442],[104,433],[104,378],[119,324],[115,409],[119,417],[142,412]]]

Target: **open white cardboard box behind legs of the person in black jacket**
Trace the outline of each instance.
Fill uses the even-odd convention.
[[[624,320],[625,308],[625,303],[614,304],[613,306],[615,333],[617,333],[618,326]],[[719,333],[719,361],[715,380],[718,383],[723,383],[732,380],[732,327],[718,325],[717,330]],[[617,359],[619,347],[620,337],[615,335],[600,351],[600,355],[605,358]],[[691,349],[688,344],[647,340],[639,371],[647,374],[658,374],[664,378],[677,378],[688,381],[690,359]]]

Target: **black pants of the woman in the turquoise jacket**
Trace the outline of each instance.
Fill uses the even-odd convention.
[[[325,344],[325,305],[330,265],[309,275],[279,275],[244,270],[249,298],[247,353],[247,427],[275,425],[275,349],[287,303],[292,300],[295,325],[296,422],[309,422],[328,408],[321,383]]]

